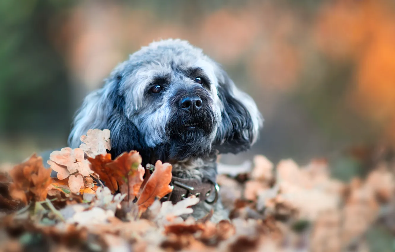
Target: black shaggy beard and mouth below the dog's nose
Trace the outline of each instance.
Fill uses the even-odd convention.
[[[197,115],[177,110],[168,124],[169,159],[185,160],[207,156],[211,151],[216,122],[214,113],[203,108]]]

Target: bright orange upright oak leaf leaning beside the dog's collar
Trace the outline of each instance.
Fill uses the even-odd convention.
[[[155,170],[141,191],[139,199],[137,199],[139,215],[144,213],[154,203],[156,197],[161,199],[172,191],[169,186],[172,177],[171,169],[171,164],[162,164],[160,160],[156,161]]]

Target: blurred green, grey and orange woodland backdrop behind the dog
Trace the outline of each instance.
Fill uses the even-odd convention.
[[[66,146],[83,97],[130,53],[181,38],[258,104],[254,154],[325,157],[347,179],[395,144],[395,6],[386,0],[2,0],[0,161]]]

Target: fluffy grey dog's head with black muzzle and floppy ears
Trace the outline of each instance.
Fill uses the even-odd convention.
[[[148,160],[185,160],[246,150],[261,125],[252,98],[216,62],[169,39],[132,54],[85,98],[69,144],[78,147],[88,129],[107,128],[115,155],[139,150]]]

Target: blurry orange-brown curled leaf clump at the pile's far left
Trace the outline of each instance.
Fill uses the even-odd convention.
[[[33,154],[26,162],[16,165],[9,172],[13,183],[9,186],[11,197],[27,205],[30,201],[43,201],[51,184],[51,169],[45,169],[43,159]]]

